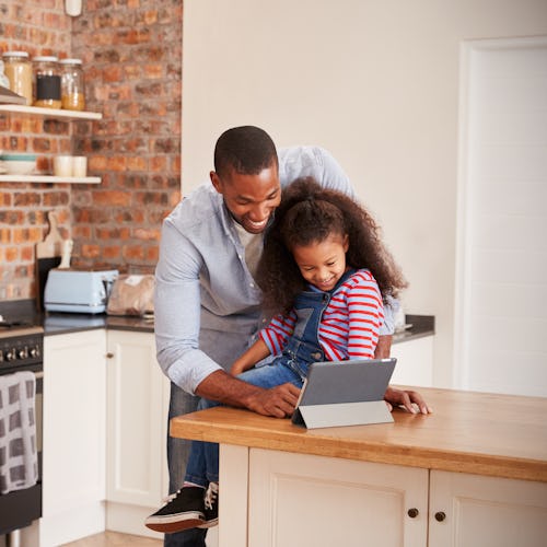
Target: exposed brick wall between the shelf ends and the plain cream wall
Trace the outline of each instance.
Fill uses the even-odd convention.
[[[150,272],[163,217],[179,200],[182,2],[89,0],[72,30],[88,67],[90,108],[103,113],[74,148],[98,187],[72,188],[83,266]]]

